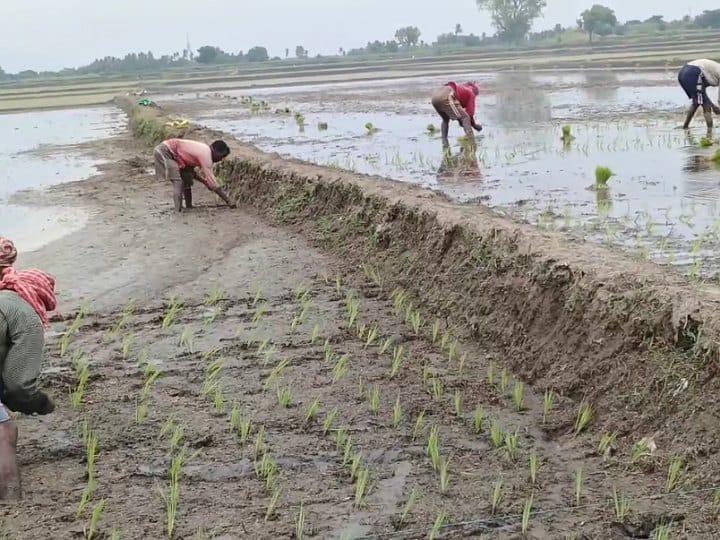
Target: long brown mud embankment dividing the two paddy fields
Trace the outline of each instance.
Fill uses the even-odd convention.
[[[219,176],[241,204],[301,229],[348,268],[376,265],[386,290],[410,291],[425,320],[500,351],[537,390],[589,400],[608,430],[662,429],[710,446],[696,413],[720,389],[717,288],[412,185],[283,159],[199,126],[169,130],[161,109],[118,104],[148,144],[223,136],[232,159]]]

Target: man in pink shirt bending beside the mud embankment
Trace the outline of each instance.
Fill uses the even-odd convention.
[[[172,182],[177,212],[182,212],[183,197],[185,208],[192,208],[193,179],[198,179],[230,208],[235,208],[213,174],[213,163],[222,161],[229,154],[230,148],[223,141],[207,145],[188,139],[168,139],[155,147],[155,175]]]

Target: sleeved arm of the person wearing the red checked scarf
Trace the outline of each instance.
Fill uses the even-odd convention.
[[[45,345],[40,319],[34,313],[18,310],[6,324],[9,347],[2,366],[0,401],[12,411],[51,413],[55,409],[54,403],[47,394],[37,389]]]

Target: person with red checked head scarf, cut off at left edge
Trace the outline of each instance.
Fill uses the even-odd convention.
[[[20,495],[17,426],[8,409],[24,414],[55,409],[50,397],[37,389],[48,311],[56,305],[55,280],[40,270],[15,270],[16,258],[13,243],[0,237],[0,498],[8,487]]]

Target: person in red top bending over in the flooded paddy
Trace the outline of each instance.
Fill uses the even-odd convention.
[[[432,94],[432,105],[442,117],[442,143],[443,148],[448,148],[448,131],[450,130],[450,120],[457,120],[465,130],[468,143],[475,148],[475,134],[473,129],[481,131],[482,126],[475,123],[475,98],[480,93],[475,83],[465,83],[458,85],[449,82]]]

